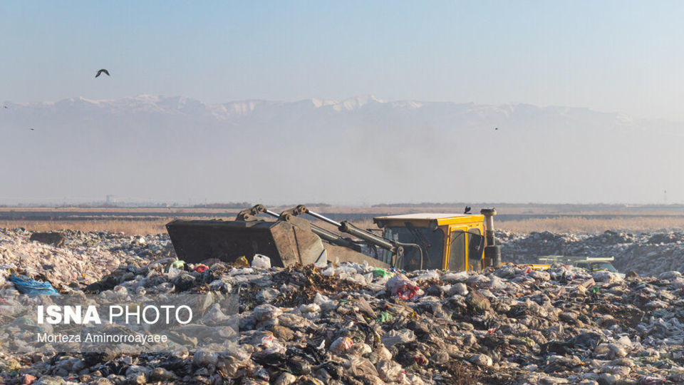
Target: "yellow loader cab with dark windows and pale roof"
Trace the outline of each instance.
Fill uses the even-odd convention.
[[[373,218],[388,240],[418,245],[423,250],[423,269],[475,270],[484,268],[484,215],[408,214]],[[421,268],[416,247],[404,247],[403,270]],[[391,262],[385,252],[381,259]]]

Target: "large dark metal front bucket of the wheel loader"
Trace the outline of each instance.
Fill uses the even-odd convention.
[[[179,259],[199,263],[216,258],[234,262],[266,255],[271,266],[326,262],[321,238],[310,229],[286,221],[173,220],[167,232]]]

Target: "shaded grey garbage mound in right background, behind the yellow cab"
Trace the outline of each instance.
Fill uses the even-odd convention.
[[[684,272],[684,233],[631,234],[606,231],[598,235],[497,232],[504,260],[535,263],[545,255],[615,257],[620,272],[658,275]]]

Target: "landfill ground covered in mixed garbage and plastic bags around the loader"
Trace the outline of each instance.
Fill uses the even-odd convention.
[[[684,277],[674,271],[680,269],[623,276],[511,264],[485,272],[399,272],[332,262],[271,267],[259,255],[251,264],[192,265],[175,260],[165,235],[63,234],[63,245],[48,245],[23,229],[0,230],[0,302],[31,295],[21,294],[13,274],[48,282],[60,294],[231,293],[239,296],[238,347],[10,354],[16,342],[0,327],[0,347],[8,348],[0,349],[0,383],[684,383]],[[683,263],[665,262],[679,255],[665,252],[680,247],[679,235],[653,237],[500,238],[504,262],[539,252],[636,255],[643,247],[663,252],[651,257],[658,268]],[[616,266],[641,263],[620,262],[628,252],[615,256]],[[0,325],[2,317],[0,311]]]

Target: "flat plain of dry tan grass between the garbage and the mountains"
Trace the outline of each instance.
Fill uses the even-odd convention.
[[[292,207],[292,206],[289,206]],[[270,207],[280,212],[289,207]],[[310,205],[311,210],[351,215],[403,214],[410,212],[462,212],[459,207],[335,207]],[[668,207],[625,205],[501,205],[494,220],[497,229],[516,233],[575,232],[598,233],[606,230],[624,232],[684,231],[684,205]],[[173,217],[183,219],[232,219],[239,209],[195,207],[0,207],[1,227],[24,227],[32,231],[81,230],[124,232],[147,235],[166,232],[165,225]],[[473,210],[479,212],[479,209]],[[13,216],[17,215],[17,216]],[[33,215],[33,217],[31,217]],[[513,215],[513,216],[512,216]],[[512,217],[523,217],[514,220]],[[524,218],[525,215],[532,217]],[[557,217],[534,217],[559,215]],[[81,217],[79,217],[81,216]],[[598,217],[597,217],[598,216]],[[310,217],[306,217],[311,219]],[[330,225],[318,225],[334,230]],[[353,222],[363,229],[375,228],[371,219]]]

